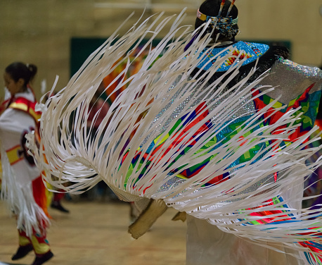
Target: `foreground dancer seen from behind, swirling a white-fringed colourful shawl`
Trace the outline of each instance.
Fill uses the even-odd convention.
[[[301,202],[304,178],[321,164],[305,164],[318,149],[305,147],[318,139],[309,137],[321,72],[288,61],[282,47],[235,42],[234,2],[205,1],[192,35],[179,27],[179,15],[139,72],[120,83],[130,82],[97,130],[104,149],[86,145],[84,114],[101,76],[137,39],[152,32],[151,42],[169,18],[153,30],[148,20],[135,25],[115,44],[110,37],[51,99],[55,108],[44,106],[41,144],[52,151],[50,163],[32,149],[39,168],[60,177],[44,176],[57,187],[71,181],[65,190],[79,192],[103,179],[120,199],[146,207],[152,198],[162,211],[185,211],[189,265],[318,264],[320,211]],[[73,112],[77,145],[64,126],[62,141],[49,137]]]

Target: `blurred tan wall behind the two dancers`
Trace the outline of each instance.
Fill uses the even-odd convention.
[[[143,18],[160,11],[169,16],[186,7],[183,24],[193,25],[201,3],[200,0],[1,0],[0,69],[3,71],[13,61],[38,66],[33,85],[39,99],[41,80],[46,80],[49,91],[56,75],[59,76],[56,90],[65,87],[70,79],[75,49],[72,39],[106,39],[135,11],[120,30],[123,34],[142,16],[145,7]],[[291,49],[292,61],[321,66],[321,0],[238,0],[236,6],[240,11],[238,39],[283,42]],[[74,51],[74,58],[77,52]],[[83,61],[84,54],[79,56]]]

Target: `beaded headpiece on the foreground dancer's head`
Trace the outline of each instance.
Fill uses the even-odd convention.
[[[224,18],[221,16],[221,12],[224,8],[225,1],[226,0],[221,0],[218,16],[207,16],[201,13],[198,9],[197,18],[199,18],[202,21],[210,20],[210,25],[212,26],[212,28],[214,27],[221,35],[224,35],[225,37],[232,39],[239,32],[237,28],[233,27],[233,25],[237,25],[238,18],[233,19],[229,16],[229,13],[231,13],[231,9],[233,8],[233,5],[235,4],[236,0],[231,1],[231,6],[229,6],[227,15]]]

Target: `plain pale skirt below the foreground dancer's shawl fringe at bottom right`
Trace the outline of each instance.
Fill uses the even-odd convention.
[[[187,215],[186,265],[302,265],[305,261],[292,257],[302,256],[295,250],[272,249],[255,245],[225,233],[205,220]],[[276,245],[274,245],[276,247]]]

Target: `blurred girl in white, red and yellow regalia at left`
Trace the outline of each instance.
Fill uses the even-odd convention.
[[[46,239],[49,226],[48,192],[41,174],[26,147],[26,135],[38,136],[37,103],[30,82],[37,73],[33,64],[15,62],[6,67],[4,82],[11,93],[0,116],[2,187],[1,198],[17,216],[19,247],[12,259],[22,259],[34,250],[32,265],[41,265],[53,257]]]

